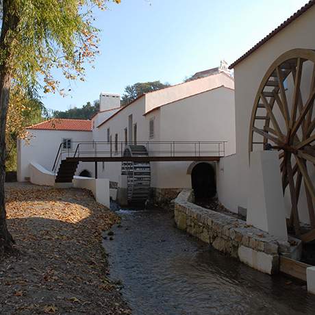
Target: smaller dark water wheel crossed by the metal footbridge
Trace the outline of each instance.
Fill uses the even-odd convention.
[[[128,145],[124,156],[148,156],[146,147]],[[122,162],[121,174],[127,175],[128,203],[145,203],[149,198],[151,170],[149,162]]]

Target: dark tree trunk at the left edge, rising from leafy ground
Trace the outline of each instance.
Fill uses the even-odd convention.
[[[5,212],[5,125],[10,97],[12,51],[11,42],[13,38],[7,38],[8,31],[16,31],[18,18],[14,1],[2,1],[2,27],[0,36],[0,49],[3,52],[3,60],[0,64],[0,255],[2,251],[12,249],[14,240],[8,231]],[[12,32],[11,32],[12,34]]]

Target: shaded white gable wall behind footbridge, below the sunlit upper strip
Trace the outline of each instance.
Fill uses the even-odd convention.
[[[235,153],[234,90],[225,87],[216,88],[164,105],[160,110],[150,113],[151,116],[154,114],[156,125],[160,129],[158,131],[160,141],[227,141],[225,155]],[[151,116],[148,114],[147,119],[149,120]],[[201,150],[218,149],[217,144],[202,146],[203,144]],[[194,146],[183,144],[180,149],[190,151],[194,150]],[[152,186],[190,188],[191,178],[187,170],[191,163],[156,163]]]

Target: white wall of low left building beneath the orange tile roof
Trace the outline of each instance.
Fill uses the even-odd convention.
[[[70,138],[75,141],[92,141],[91,131],[58,131],[58,130],[31,130],[32,138],[27,144],[24,140],[18,140],[18,181],[25,181],[29,177],[29,164],[38,163],[48,171],[51,171],[53,162],[57,155],[60,143],[63,138]],[[75,146],[75,144],[73,144]],[[63,155],[66,157],[66,155]],[[90,163],[80,163],[77,174],[84,169],[93,172],[93,165]]]

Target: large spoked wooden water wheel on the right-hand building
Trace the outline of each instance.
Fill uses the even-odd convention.
[[[315,240],[315,51],[283,53],[262,79],[253,105],[249,152],[279,151],[283,194],[290,199],[289,231]],[[301,225],[301,213],[310,226]]]

